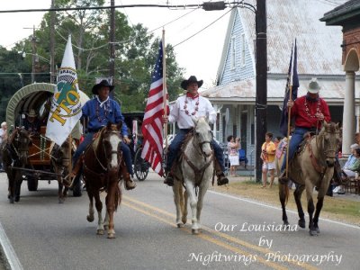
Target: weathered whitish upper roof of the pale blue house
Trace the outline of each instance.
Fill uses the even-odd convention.
[[[267,14],[267,66],[270,74],[286,74],[293,40],[297,39],[298,73],[312,75],[343,75],[341,66],[341,27],[327,27],[320,17],[333,4],[325,1],[296,0],[266,1]],[[256,5],[256,0],[247,3]],[[229,19],[227,36],[222,52],[218,80],[229,50],[229,40],[235,17],[243,23],[247,46],[255,59],[255,14],[247,8],[235,8]],[[255,60],[254,60],[255,61]]]

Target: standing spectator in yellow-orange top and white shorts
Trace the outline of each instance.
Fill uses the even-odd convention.
[[[273,187],[274,184],[274,172],[275,172],[275,143],[272,141],[273,133],[266,132],[265,136],[266,141],[261,147],[261,156],[263,160],[263,186],[266,187],[267,184],[267,172],[270,172],[270,187]]]

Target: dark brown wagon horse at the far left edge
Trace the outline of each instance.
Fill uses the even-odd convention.
[[[20,190],[23,183],[23,172],[13,167],[27,165],[31,143],[29,132],[23,128],[16,128],[1,146],[4,170],[9,181],[7,197],[11,203],[20,201]]]

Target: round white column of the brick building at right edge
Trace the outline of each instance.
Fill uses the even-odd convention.
[[[355,115],[355,72],[347,71],[345,78],[345,97],[343,113],[343,156],[350,155],[350,146],[355,143],[356,115]]]

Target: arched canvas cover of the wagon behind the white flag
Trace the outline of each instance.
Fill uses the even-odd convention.
[[[49,96],[52,96],[55,92],[55,86],[53,84],[32,84],[26,85],[18,90],[10,99],[6,107],[6,123],[8,127],[15,126],[16,117],[24,112],[29,112],[31,108],[40,111],[46,103]],[[82,91],[79,91],[80,102],[85,104],[89,100],[89,97]],[[8,129],[10,130],[10,129]],[[79,124],[72,131],[72,136],[76,139],[80,138],[80,127]]]

